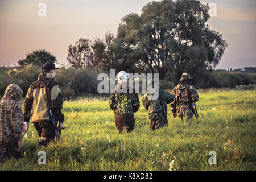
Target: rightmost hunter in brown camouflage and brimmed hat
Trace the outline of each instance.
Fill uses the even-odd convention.
[[[191,104],[189,103],[188,91],[186,88],[186,84],[191,93],[192,101],[197,102],[199,100],[199,96],[197,90],[194,86],[191,85],[191,80],[193,78],[189,75],[189,73],[183,73],[179,84],[174,88],[172,94],[175,97],[175,100],[171,102],[171,111],[172,115],[175,118],[178,114],[181,120],[186,118],[187,120],[191,120],[193,118],[193,110],[191,108]]]

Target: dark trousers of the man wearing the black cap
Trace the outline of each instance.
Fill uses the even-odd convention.
[[[46,146],[50,141],[54,141],[55,131],[51,122],[34,122],[36,130],[38,131],[39,146]]]

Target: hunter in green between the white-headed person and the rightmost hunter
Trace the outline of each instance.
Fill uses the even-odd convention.
[[[155,99],[152,99],[153,95],[155,94],[154,83],[155,83],[154,80],[148,81],[146,93],[142,98],[142,103],[145,109],[148,110],[148,116],[150,119],[149,123],[150,123],[151,130],[160,129],[166,125],[166,119],[164,118],[164,115],[163,115],[159,96]],[[174,100],[174,96],[172,96],[172,94],[164,91],[161,88],[160,88],[160,92],[163,100],[164,109],[166,110],[166,114],[167,114],[167,104],[169,104]]]

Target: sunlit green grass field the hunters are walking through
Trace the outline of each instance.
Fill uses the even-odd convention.
[[[65,101],[63,142],[51,143],[46,165],[38,164],[38,135],[32,123],[24,133],[20,160],[0,164],[0,170],[255,170],[256,91],[199,93],[197,122],[172,118],[169,127],[150,131],[141,107],[135,129],[119,134],[108,99]],[[26,136],[27,137],[26,137]],[[208,155],[216,151],[217,164]]]

